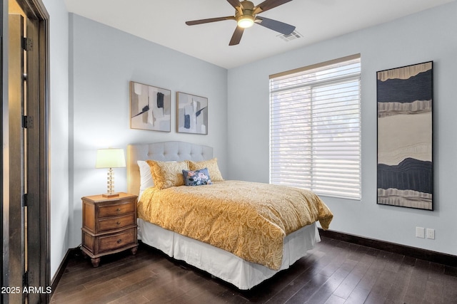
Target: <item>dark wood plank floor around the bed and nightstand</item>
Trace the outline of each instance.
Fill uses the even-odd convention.
[[[71,256],[51,303],[457,303],[457,268],[326,237],[247,291],[148,246],[129,252],[99,268]]]

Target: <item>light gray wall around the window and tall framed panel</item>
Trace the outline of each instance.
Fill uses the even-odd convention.
[[[361,53],[362,199],[323,196],[335,216],[330,228],[457,255],[456,16],[453,2],[229,70],[228,177],[268,182],[268,75]],[[376,71],[424,61],[434,68],[435,211],[377,205]],[[436,239],[416,238],[416,226],[435,229]]]

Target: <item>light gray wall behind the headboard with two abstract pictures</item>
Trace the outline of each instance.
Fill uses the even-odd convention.
[[[227,70],[101,23],[70,14],[70,241],[81,243],[81,197],[106,192],[105,169],[95,169],[96,150],[130,143],[181,140],[214,147],[227,172]],[[129,81],[209,100],[209,134],[130,129]],[[126,170],[114,169],[115,190],[126,191]]]

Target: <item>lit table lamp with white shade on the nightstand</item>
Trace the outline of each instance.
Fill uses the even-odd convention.
[[[108,183],[106,194],[101,194],[106,197],[119,196],[119,193],[114,192],[114,172],[113,168],[126,167],[126,158],[124,149],[99,149],[97,150],[96,168],[108,169]]]

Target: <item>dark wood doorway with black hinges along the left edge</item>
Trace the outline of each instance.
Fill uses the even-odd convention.
[[[47,23],[36,0],[9,1],[7,264],[4,303],[46,303],[49,279]],[[45,14],[47,16],[47,14]],[[3,132],[3,135],[5,132]],[[5,219],[5,217],[4,217]],[[5,224],[4,224],[5,226]],[[6,248],[6,251],[5,251]],[[6,253],[5,253],[6,252]],[[5,258],[6,257],[6,258]],[[6,279],[5,279],[6,278]],[[19,288],[19,289],[18,289]]]

